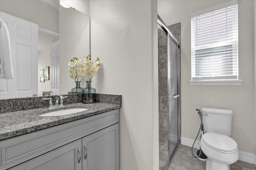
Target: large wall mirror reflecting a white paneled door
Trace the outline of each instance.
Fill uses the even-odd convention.
[[[0,99],[67,94],[68,61],[90,54],[90,18],[58,0],[1,0],[0,11],[14,68],[14,79],[0,79]]]

